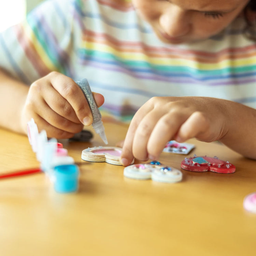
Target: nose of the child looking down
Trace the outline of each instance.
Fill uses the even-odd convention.
[[[172,5],[168,10],[162,13],[159,23],[163,32],[170,37],[181,37],[186,35],[191,27],[187,12],[179,6]]]

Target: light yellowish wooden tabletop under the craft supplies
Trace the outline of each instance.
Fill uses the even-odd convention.
[[[127,126],[104,126],[110,146],[124,139]],[[0,172],[39,167],[26,136],[0,130],[0,138]],[[191,156],[216,155],[237,171],[181,170],[176,184],[131,180],[122,166],[81,159],[103,145],[96,134],[64,144],[81,172],[76,194],[56,193],[44,174],[0,180],[0,255],[256,255],[256,215],[242,205],[256,191],[256,161],[217,142],[188,142]],[[159,160],[180,170],[183,159]]]

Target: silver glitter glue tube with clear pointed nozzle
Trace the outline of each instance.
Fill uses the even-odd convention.
[[[91,113],[93,114],[93,128],[94,130],[100,135],[101,139],[104,141],[105,144],[108,144],[108,140],[106,138],[106,134],[104,132],[104,126],[101,121],[101,114],[96,105],[96,102],[93,97],[93,93],[91,92],[91,88],[86,78],[79,80],[76,84],[81,88],[84,93],[84,96],[89,104],[91,109]]]

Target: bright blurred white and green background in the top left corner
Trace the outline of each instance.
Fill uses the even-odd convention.
[[[0,0],[0,32],[19,23],[43,0]]]

